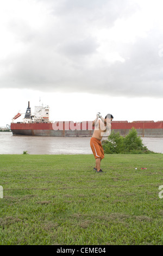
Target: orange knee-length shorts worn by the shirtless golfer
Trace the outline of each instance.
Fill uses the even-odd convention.
[[[90,146],[91,146],[93,155],[95,156],[95,159],[104,158],[103,146],[101,144],[101,141],[99,141],[99,139],[91,138]]]

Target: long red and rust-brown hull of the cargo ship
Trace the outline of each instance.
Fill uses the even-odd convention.
[[[68,126],[67,124],[68,123]],[[62,129],[52,123],[11,123],[13,135],[48,136],[48,137],[91,137],[94,127],[91,121],[74,123],[71,129],[71,122],[63,122]],[[121,136],[126,136],[130,129],[134,127],[140,137],[163,137],[163,122],[133,122],[126,121],[112,122],[111,131],[119,132]]]

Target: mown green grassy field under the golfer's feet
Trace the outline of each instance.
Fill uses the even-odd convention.
[[[0,245],[162,245],[163,155],[105,155],[104,173],[94,163],[0,155]]]

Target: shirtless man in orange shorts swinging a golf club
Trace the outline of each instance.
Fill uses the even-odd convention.
[[[100,118],[100,119],[99,119]],[[93,168],[97,173],[103,173],[101,169],[101,160],[104,158],[104,150],[102,147],[102,137],[105,132],[109,132],[111,129],[111,121],[113,116],[111,114],[107,114],[105,118],[102,117],[101,113],[96,114],[96,119],[93,121],[92,126],[95,126],[95,130],[93,132],[90,146],[93,152],[93,155],[96,159],[96,166]],[[109,134],[108,134],[109,136]]]

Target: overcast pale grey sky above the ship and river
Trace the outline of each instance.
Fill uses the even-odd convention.
[[[162,9],[162,0],[0,0],[0,126],[40,97],[54,121],[98,111],[163,120]]]

